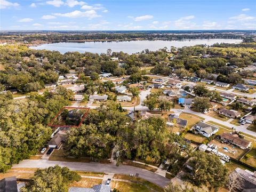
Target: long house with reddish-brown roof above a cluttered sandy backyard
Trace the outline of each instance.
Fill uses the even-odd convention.
[[[250,148],[252,145],[251,141],[247,141],[243,138],[239,138],[238,135],[235,134],[230,134],[230,133],[222,133],[222,135],[220,135],[220,138],[226,142],[226,143],[231,143],[235,146],[238,146],[242,149],[247,149]]]

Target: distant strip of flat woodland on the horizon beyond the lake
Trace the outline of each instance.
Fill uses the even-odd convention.
[[[251,31],[237,31],[237,33],[230,33],[230,31],[106,31],[106,32],[61,32],[49,31],[38,33],[29,32],[2,32],[3,41],[15,42],[67,42],[67,41],[105,41],[105,40],[137,40],[147,39],[155,40],[162,39],[166,41],[181,40],[181,39],[210,39],[210,38],[229,38],[229,39],[244,39],[244,42],[252,42],[253,35]]]

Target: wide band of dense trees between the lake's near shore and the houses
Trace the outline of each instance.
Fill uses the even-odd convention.
[[[210,57],[202,58],[202,55]],[[118,61],[111,61],[118,57]],[[252,77],[249,70],[235,73],[229,65],[246,67],[256,62],[256,43],[241,43],[236,46],[229,44],[214,44],[213,46],[196,45],[190,47],[164,47],[158,51],[143,50],[138,54],[111,52],[106,54],[31,50],[26,46],[0,46],[0,63],[4,70],[0,71],[0,91],[17,89],[21,92],[31,92],[42,89],[45,84],[55,83],[59,75],[69,73],[70,69],[78,72],[78,83],[91,83],[98,79],[102,72],[116,76],[130,75],[132,83],[147,80],[142,66],[155,66],[153,74],[180,77],[198,76],[214,79],[212,74],[219,74],[217,81],[227,83],[242,83],[242,78]],[[228,65],[227,65],[228,63]],[[126,82],[127,83],[127,82]]]

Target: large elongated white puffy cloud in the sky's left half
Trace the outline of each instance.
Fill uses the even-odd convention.
[[[54,15],[56,16],[60,16],[60,17],[68,17],[68,18],[88,18],[88,19],[93,19],[93,18],[97,18],[97,17],[101,17],[101,15],[98,15],[96,11],[94,10],[89,10],[89,11],[73,11],[73,12],[69,12],[69,13],[54,13]]]

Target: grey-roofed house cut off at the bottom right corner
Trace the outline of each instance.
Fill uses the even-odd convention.
[[[256,191],[256,173],[249,170],[243,170],[237,167],[234,171],[243,180],[242,192],[255,192]]]

